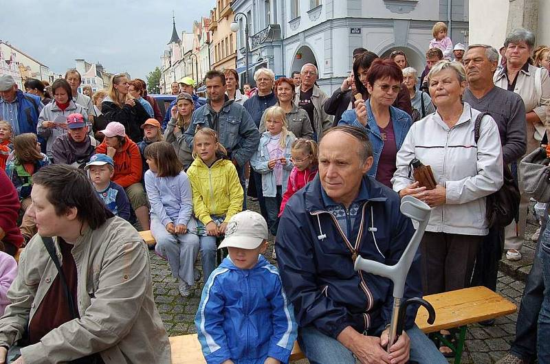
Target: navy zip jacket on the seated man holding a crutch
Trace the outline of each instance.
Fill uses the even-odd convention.
[[[355,199],[361,201],[360,209],[348,240],[325,207],[321,188],[317,175],[289,199],[276,236],[277,262],[296,321],[300,327],[314,326],[334,339],[347,326],[379,336],[391,322],[393,283],[354,271],[352,252],[382,264],[396,264],[415,232],[412,221],[399,211],[397,193],[365,175]],[[420,264],[417,253],[404,299],[422,297]],[[405,330],[414,325],[417,309],[408,306]]]

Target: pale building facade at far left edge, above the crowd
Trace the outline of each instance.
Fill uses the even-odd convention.
[[[54,81],[53,73],[50,72],[49,67],[21,52],[10,43],[0,40],[0,74],[6,73],[13,76],[17,87],[23,91],[25,90],[23,84],[28,78],[36,78],[50,83]]]

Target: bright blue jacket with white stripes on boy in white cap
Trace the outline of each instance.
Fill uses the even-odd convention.
[[[297,336],[279,273],[263,255],[252,269],[221,262],[204,285],[195,325],[208,364],[263,364],[268,356],[288,363]]]

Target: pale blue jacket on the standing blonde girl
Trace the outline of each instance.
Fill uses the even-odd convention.
[[[267,162],[270,161],[270,152],[267,150],[267,144],[270,142],[271,134],[269,131],[266,131],[262,134],[260,138],[260,144],[258,150],[252,155],[250,159],[250,166],[254,168],[256,172],[262,175],[262,192],[264,197],[276,197],[277,196],[277,181],[275,179],[275,173],[273,170],[267,167]],[[292,155],[290,150],[292,149],[292,143],[296,140],[296,137],[292,132],[287,136],[287,141],[285,145],[285,158],[287,159],[287,164],[283,166],[283,183],[281,185],[282,192],[281,196],[285,194],[287,190],[288,177],[290,176],[290,171],[294,168],[294,164],[290,161]]]

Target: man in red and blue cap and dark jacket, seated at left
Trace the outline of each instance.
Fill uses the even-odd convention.
[[[83,115],[74,113],[67,116],[67,134],[57,137],[52,146],[53,163],[85,166],[90,157],[96,154],[98,141],[88,135],[88,126]]]

